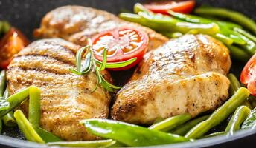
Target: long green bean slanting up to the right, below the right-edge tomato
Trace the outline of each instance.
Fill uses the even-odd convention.
[[[202,121],[201,123],[197,124],[196,127],[193,127],[186,135],[186,138],[200,138],[209,129],[215,127],[216,125],[220,124],[225,118],[228,117],[234,110],[237,109],[246,98],[249,97],[250,93],[244,87],[240,87],[237,92],[228,99],[221,107],[217,108],[211,116],[206,120]]]

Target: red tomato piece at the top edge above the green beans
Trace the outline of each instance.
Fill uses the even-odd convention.
[[[167,10],[173,10],[177,13],[191,13],[196,2],[194,0],[188,1],[158,1],[144,4],[144,7],[153,11],[154,13],[168,14]]]

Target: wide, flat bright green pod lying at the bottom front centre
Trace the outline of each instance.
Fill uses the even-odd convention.
[[[130,147],[173,144],[190,141],[179,135],[150,130],[133,124],[107,119],[88,119],[80,121],[86,130],[102,138],[110,138]]]

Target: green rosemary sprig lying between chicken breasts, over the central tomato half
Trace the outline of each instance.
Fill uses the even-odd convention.
[[[71,73],[76,75],[86,75],[92,69],[95,70],[95,74],[97,76],[97,84],[92,92],[97,90],[98,85],[100,84],[104,89],[108,90],[109,92],[115,92],[116,90],[120,89],[121,87],[117,87],[115,85],[110,84],[103,78],[100,71],[105,70],[105,68],[119,68],[119,67],[126,67],[129,64],[132,64],[136,61],[137,58],[132,58],[127,61],[116,62],[116,63],[107,63],[107,54],[106,49],[103,50],[103,60],[98,61],[93,53],[92,50],[92,41],[88,40],[89,45],[86,47],[82,47],[80,50],[77,51],[76,55],[76,66],[77,70],[70,69]],[[83,59],[83,57],[85,58]]]

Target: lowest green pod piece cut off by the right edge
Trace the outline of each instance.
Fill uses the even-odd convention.
[[[252,110],[246,121],[243,122],[241,129],[256,129],[256,107]]]

